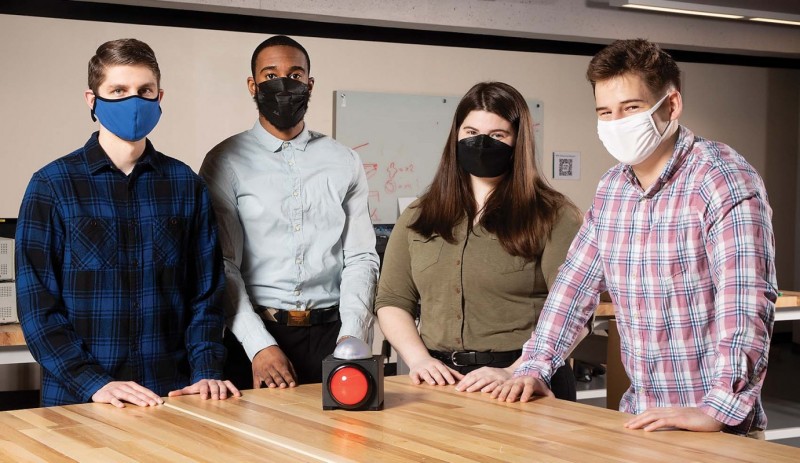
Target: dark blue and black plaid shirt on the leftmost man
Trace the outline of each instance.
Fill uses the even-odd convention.
[[[222,376],[222,254],[208,192],[150,142],[125,176],[95,133],[33,175],[17,226],[20,323],[44,406],[106,383],[159,395]]]

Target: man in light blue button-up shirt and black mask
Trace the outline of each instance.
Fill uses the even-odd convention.
[[[338,341],[371,337],[378,256],[369,187],[353,150],[303,122],[314,85],[306,50],[275,36],[251,66],[258,122],[200,169],[225,256],[227,370],[240,387],[320,382]],[[237,349],[252,368],[245,358],[237,371]]]

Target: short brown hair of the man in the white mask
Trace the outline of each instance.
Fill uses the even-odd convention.
[[[594,55],[586,78],[594,89],[597,82],[633,73],[642,78],[653,94],[672,85],[681,89],[681,70],[669,53],[644,39],[617,40]]]

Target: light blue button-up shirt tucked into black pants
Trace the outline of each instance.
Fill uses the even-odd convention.
[[[219,222],[227,326],[251,360],[277,344],[254,306],[339,304],[339,338],[369,341],[378,255],[358,154],[306,128],[283,141],[256,122],[214,147],[200,175]]]

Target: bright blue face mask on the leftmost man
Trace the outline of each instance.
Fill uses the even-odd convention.
[[[123,140],[141,140],[156,127],[160,118],[161,106],[157,97],[152,100],[138,95],[118,100],[94,98],[92,120],[100,119],[103,127]]]

